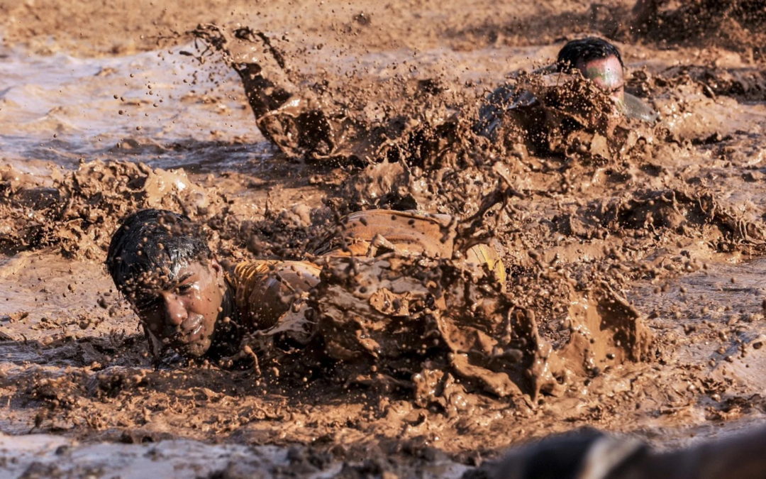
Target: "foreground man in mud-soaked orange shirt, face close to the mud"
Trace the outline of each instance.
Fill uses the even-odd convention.
[[[444,215],[372,210],[349,215],[329,231],[319,257],[375,257],[383,252],[451,258],[453,221]],[[460,255],[468,267],[486,264],[499,281],[497,252],[477,244]],[[279,326],[293,300],[316,286],[322,267],[309,261],[244,261],[231,271],[215,258],[189,218],[146,209],[114,233],[106,268],[133,307],[155,357],[172,349],[187,358],[218,360],[240,353],[244,336]],[[290,347],[305,337],[291,337]]]

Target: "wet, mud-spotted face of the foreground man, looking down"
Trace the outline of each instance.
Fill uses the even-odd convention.
[[[223,270],[215,260],[195,261],[174,276],[143,281],[128,300],[158,340],[184,356],[202,356],[210,348],[224,300]]]

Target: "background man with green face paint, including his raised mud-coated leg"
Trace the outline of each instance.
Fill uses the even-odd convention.
[[[267,35],[237,28],[230,36],[213,25],[192,34],[208,45],[206,51],[221,51],[237,71],[258,129],[290,158],[364,166],[381,159],[422,156],[418,150],[428,150],[429,143],[449,143],[450,132],[465,114],[430,115],[440,119],[435,121],[424,114],[423,118],[392,118],[382,123],[352,117],[343,105],[338,105],[338,111],[333,109],[335,100],[325,88],[298,87]],[[538,146],[547,143],[542,136],[548,133],[535,130],[541,125],[542,129],[556,129],[545,119],[550,109],[540,107],[541,103],[551,104],[553,110],[567,116],[558,119],[559,123],[574,121],[596,130],[609,130],[605,125],[614,123],[620,113],[645,122],[656,120],[650,107],[624,92],[623,74],[622,57],[613,44],[600,38],[570,41],[554,66],[522,75],[491,94],[473,130],[495,143],[512,135],[540,149]],[[578,81],[583,78],[585,82]],[[430,83],[424,80],[421,84]],[[513,124],[499,128],[501,123]]]

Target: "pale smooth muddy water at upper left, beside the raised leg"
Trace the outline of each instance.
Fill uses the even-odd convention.
[[[191,86],[203,72],[179,50],[99,59],[3,51],[2,121],[13,125],[0,136],[6,162],[72,168],[108,157],[178,168],[257,158],[265,145],[237,102],[234,76]]]

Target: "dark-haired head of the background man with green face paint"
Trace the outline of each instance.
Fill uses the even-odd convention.
[[[572,40],[558,52],[556,70],[562,73],[580,71],[615,100],[624,100],[623,61],[620,51],[601,38]]]

